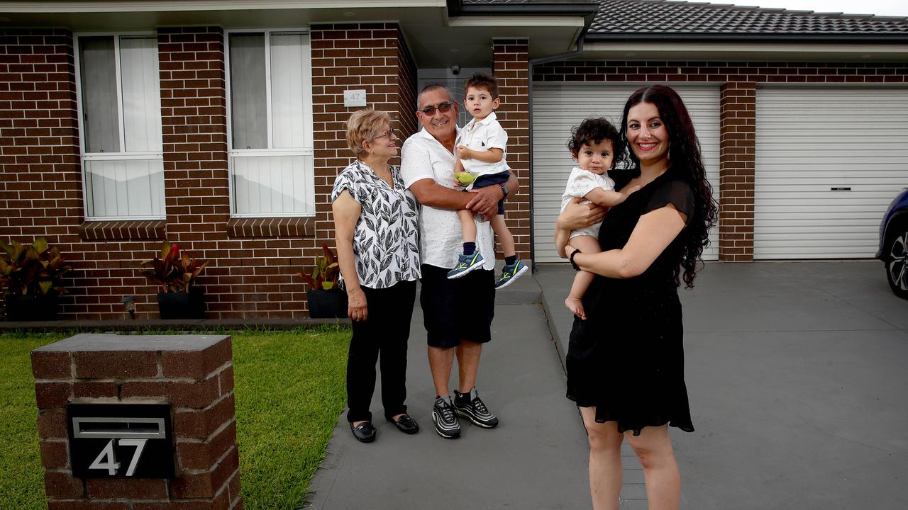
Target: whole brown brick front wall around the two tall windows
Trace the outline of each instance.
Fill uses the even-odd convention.
[[[352,155],[343,90],[364,88],[369,105],[416,130],[416,68],[397,25],[320,25],[311,30],[315,116],[313,218],[231,219],[223,31],[161,28],[166,221],[84,221],[74,44],[69,32],[0,32],[0,240],[44,236],[74,270],[64,319],[157,318],[156,289],[139,275],[165,237],[208,260],[199,284],[207,317],[300,318],[306,294],[297,272],[321,243],[333,246],[331,185]]]

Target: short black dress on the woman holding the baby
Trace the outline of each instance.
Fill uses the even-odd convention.
[[[640,216],[671,203],[688,220],[695,196],[665,172],[606,214],[599,230],[603,251],[624,248]],[[682,173],[682,172],[679,172]],[[639,172],[611,172],[617,189]],[[568,344],[568,398],[596,407],[596,421],[616,421],[618,432],[670,425],[693,432],[684,382],[681,303],[675,271],[683,260],[681,230],[641,275],[597,276],[583,297],[587,320],[574,318]]]

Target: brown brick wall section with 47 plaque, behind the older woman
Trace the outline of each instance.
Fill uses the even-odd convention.
[[[393,127],[406,138],[416,131],[416,66],[395,24],[313,25],[311,30],[315,243],[333,247],[331,189],[354,159],[344,123],[361,109],[345,107],[343,91],[365,90],[367,106],[390,113]],[[399,165],[400,158],[391,164]]]

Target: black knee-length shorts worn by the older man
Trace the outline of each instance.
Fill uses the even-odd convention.
[[[495,317],[495,271],[474,270],[457,280],[448,280],[448,271],[422,265],[419,306],[429,346],[457,347],[461,339],[488,342]]]

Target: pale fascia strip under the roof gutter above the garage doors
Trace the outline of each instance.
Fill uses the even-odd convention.
[[[729,57],[753,54],[908,54],[908,44],[769,44],[769,43],[590,43],[584,53],[673,53],[679,56],[691,53],[721,53]]]

